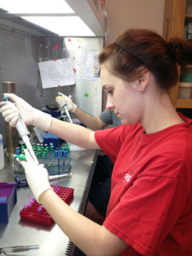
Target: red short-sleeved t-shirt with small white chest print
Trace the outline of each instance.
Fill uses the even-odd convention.
[[[130,245],[120,255],[192,255],[192,125],[183,119],[152,134],[139,124],[95,132],[115,162],[104,226]]]

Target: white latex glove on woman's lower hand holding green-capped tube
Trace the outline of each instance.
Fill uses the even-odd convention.
[[[52,189],[49,184],[49,174],[44,165],[38,165],[31,154],[25,149],[26,161],[17,161],[24,167],[26,172],[26,181],[32,190],[32,194],[39,203],[39,196],[46,190]]]

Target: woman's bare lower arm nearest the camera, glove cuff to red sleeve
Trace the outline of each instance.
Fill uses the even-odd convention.
[[[128,245],[109,232],[69,207],[52,189],[44,191],[40,203],[49,212],[61,230],[86,255],[113,256],[125,250]]]

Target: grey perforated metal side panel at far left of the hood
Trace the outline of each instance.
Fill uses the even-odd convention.
[[[15,82],[15,93],[40,108],[38,96],[38,40],[30,35],[0,28],[0,101],[4,81]],[[0,132],[6,147],[5,124],[0,114]]]

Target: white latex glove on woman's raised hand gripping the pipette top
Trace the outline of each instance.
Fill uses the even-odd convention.
[[[2,113],[5,121],[9,122],[9,125],[15,126],[20,116],[26,125],[34,125],[44,131],[49,130],[51,116],[48,113],[32,108],[15,94],[4,93],[4,96],[9,96],[9,100],[15,102],[0,102],[0,113]]]

